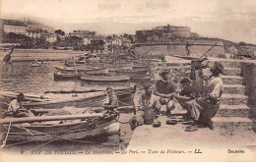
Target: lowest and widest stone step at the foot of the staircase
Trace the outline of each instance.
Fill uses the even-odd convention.
[[[253,122],[249,118],[239,117],[214,117],[212,118],[214,129],[221,129],[227,132],[233,131],[251,131]]]

